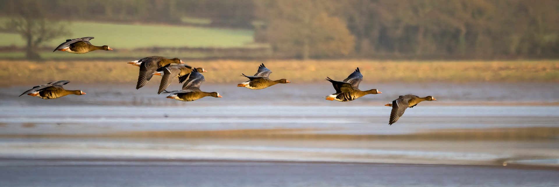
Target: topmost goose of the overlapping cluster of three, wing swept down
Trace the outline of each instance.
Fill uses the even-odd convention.
[[[143,59],[138,60],[140,63],[140,73],[138,75],[138,83],[136,83],[136,89],[144,87],[146,83],[151,79],[153,73],[159,68],[163,68],[171,63],[184,64],[181,59],[166,59],[163,56],[148,56]]]

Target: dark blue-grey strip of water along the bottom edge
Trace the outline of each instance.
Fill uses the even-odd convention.
[[[24,166],[12,161],[12,165],[0,167],[3,185],[554,186],[559,183],[556,177],[559,171],[503,166],[29,160],[20,163]]]

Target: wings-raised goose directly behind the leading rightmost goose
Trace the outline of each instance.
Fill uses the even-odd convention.
[[[326,100],[337,100],[339,102],[348,102],[355,100],[357,98],[363,97],[367,94],[380,94],[382,92],[377,89],[371,89],[366,91],[359,90],[359,83],[363,80],[363,75],[359,68],[353,71],[348,78],[344,81],[335,81],[326,77],[326,80],[330,81],[336,90],[336,93],[326,96]]]

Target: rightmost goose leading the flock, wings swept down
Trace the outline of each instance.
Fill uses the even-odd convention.
[[[392,106],[392,112],[390,112],[390,121],[388,124],[392,125],[392,123],[396,123],[396,121],[398,121],[398,119],[400,119],[400,117],[404,115],[406,108],[408,107],[413,108],[416,105],[418,105],[419,102],[422,102],[424,100],[437,100],[437,99],[433,98],[433,96],[427,96],[421,98],[418,97],[417,95],[410,94],[410,95],[401,95],[396,100],[393,100],[392,104],[390,103],[385,104],[385,106]]]

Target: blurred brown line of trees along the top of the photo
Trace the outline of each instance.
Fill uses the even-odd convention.
[[[4,16],[13,4],[0,1]],[[53,18],[254,28],[276,56],[509,58],[559,56],[557,0],[53,0]],[[45,3],[46,2],[46,3]],[[12,4],[12,5],[10,5]]]

